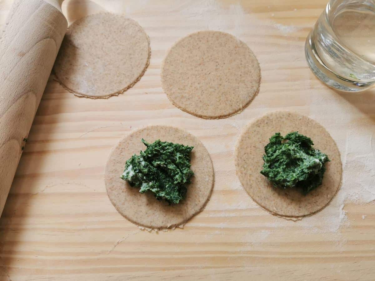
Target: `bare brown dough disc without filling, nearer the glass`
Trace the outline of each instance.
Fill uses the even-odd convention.
[[[178,40],[161,72],[163,90],[175,106],[209,119],[244,109],[257,94],[260,77],[248,45],[221,31],[199,31]]]

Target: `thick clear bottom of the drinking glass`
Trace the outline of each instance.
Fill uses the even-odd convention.
[[[314,40],[311,39],[312,32],[306,38],[305,55],[312,72],[329,87],[340,91],[358,92],[366,90],[373,82],[357,82],[343,78],[329,70],[320,59],[315,48]]]

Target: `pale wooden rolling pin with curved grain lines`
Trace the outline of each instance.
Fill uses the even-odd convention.
[[[0,34],[0,214],[68,27],[63,0],[15,0]]]

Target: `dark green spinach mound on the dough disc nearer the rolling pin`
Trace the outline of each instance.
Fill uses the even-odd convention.
[[[194,175],[190,170],[190,152],[193,146],[178,143],[148,143],[144,139],[145,151],[134,154],[126,161],[121,178],[131,186],[139,187],[140,193],[150,190],[157,200],[178,203],[186,195],[186,185]]]

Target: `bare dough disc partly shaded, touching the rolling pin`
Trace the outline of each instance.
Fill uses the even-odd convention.
[[[150,40],[133,19],[98,13],[75,21],[65,34],[54,72],[77,96],[108,98],[132,87],[150,62]]]

